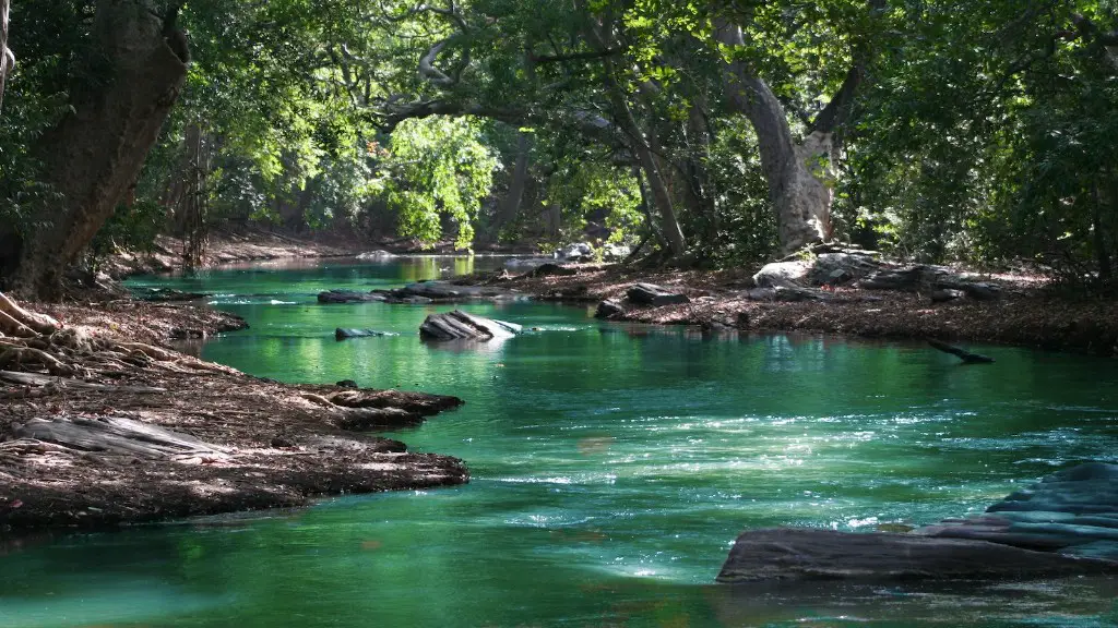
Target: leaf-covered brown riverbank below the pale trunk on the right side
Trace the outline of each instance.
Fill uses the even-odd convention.
[[[1048,288],[1042,277],[984,276],[997,289],[989,301],[934,303],[920,292],[837,286],[823,299],[758,298],[751,270],[661,272],[618,265],[572,266],[571,275],[475,275],[464,283],[517,289],[544,301],[595,304],[623,301],[636,283],[683,294],[690,303],[626,304],[610,320],[699,325],[709,331],[823,332],[883,339],[1012,344],[1118,356],[1118,303],[1076,301]],[[818,292],[818,291],[817,291]]]

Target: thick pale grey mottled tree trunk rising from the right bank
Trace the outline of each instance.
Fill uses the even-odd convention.
[[[742,46],[741,28],[719,25],[717,42]],[[776,211],[784,255],[825,239],[830,234],[833,193],[825,181],[831,164],[830,131],[813,131],[796,143],[776,95],[741,60],[721,64],[730,103],[749,118],[757,133],[761,170]]]

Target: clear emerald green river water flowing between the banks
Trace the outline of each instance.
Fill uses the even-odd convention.
[[[737,589],[745,529],[873,530],[979,512],[1061,466],[1118,460],[1118,363],[986,346],[704,337],[581,307],[465,308],[529,329],[444,349],[446,307],[319,305],[493,259],[328,260],[132,283],[201,291],[252,329],[210,360],[292,382],[456,394],[390,436],[466,460],[462,487],[0,545],[0,627],[1115,626],[1118,582]],[[397,332],[335,342],[335,326]]]

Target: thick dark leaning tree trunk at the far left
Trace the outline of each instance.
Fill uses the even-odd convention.
[[[39,144],[45,181],[60,198],[22,237],[12,285],[58,296],[74,264],[135,181],[179,96],[187,73],[181,32],[164,38],[149,0],[98,0],[89,84],[75,88],[70,113]],[[9,251],[6,251],[9,253]]]

